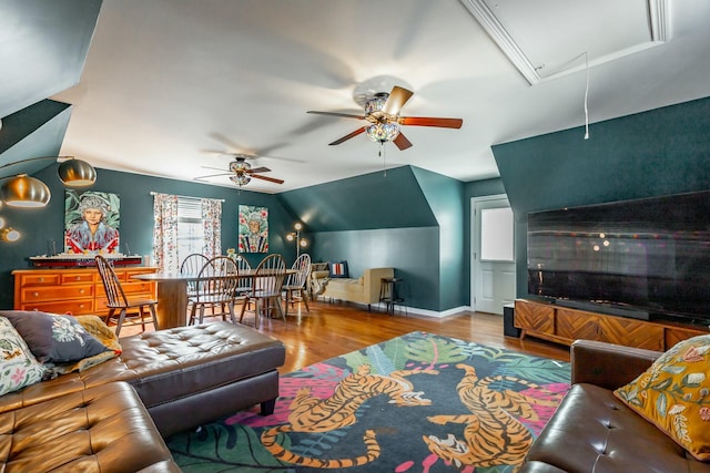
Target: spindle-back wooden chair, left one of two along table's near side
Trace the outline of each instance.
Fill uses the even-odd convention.
[[[230,315],[232,323],[236,323],[234,304],[240,297],[236,295],[239,269],[232,258],[216,256],[205,263],[199,273],[195,294],[189,297],[190,320],[193,325],[204,322],[205,309],[212,309],[212,316],[222,316],[226,320]],[[243,297],[241,297],[243,299]]]

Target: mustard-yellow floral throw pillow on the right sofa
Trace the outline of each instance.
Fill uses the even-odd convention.
[[[692,456],[710,460],[710,335],[676,345],[613,394]]]

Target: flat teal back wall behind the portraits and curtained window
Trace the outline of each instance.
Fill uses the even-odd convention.
[[[0,216],[8,225],[22,233],[19,241],[0,243],[0,308],[12,308],[12,269],[30,268],[30,256],[51,253],[51,243],[62,250],[64,226],[64,187],[57,176],[58,165],[42,169],[36,177],[43,181],[52,193],[47,207],[36,209],[12,209],[2,207]],[[153,248],[153,196],[151,191],[191,197],[222,198],[222,249],[237,246],[237,214],[240,205],[257,205],[268,208],[270,251],[281,253],[291,265],[295,259],[295,248],[285,239],[294,216],[276,196],[270,194],[237,192],[235,188],[215,187],[197,183],[150,177],[138,174],[97,169],[98,179],[92,191],[115,193],[121,198],[121,250],[148,255]],[[246,259],[256,265],[264,255],[246,254]]]

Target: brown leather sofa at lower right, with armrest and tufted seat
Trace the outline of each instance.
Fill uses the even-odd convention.
[[[572,387],[519,473],[710,472],[710,463],[687,454],[613,397],[661,352],[589,340],[570,350]]]

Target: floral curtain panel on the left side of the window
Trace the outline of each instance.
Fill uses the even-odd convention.
[[[154,194],[153,266],[159,273],[178,273],[178,196]]]

